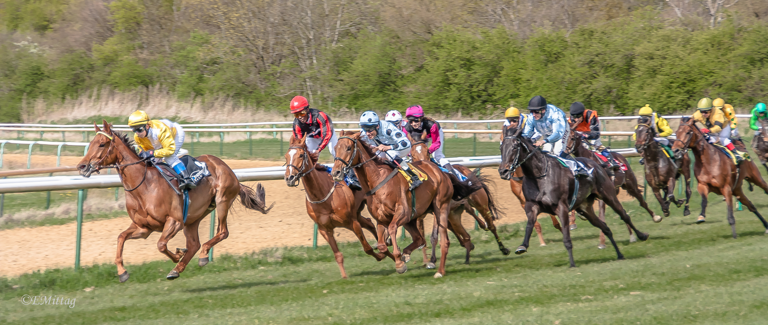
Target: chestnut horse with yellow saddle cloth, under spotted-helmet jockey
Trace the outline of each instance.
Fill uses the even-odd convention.
[[[336,143],[336,163],[333,165],[333,179],[337,182],[343,180],[349,169],[354,169],[362,184],[362,190],[369,192],[377,185],[381,185],[383,179],[392,172],[393,166],[383,163],[372,149],[360,139],[360,133],[341,131]],[[435,277],[445,275],[445,260],[448,258],[448,215],[454,186],[449,176],[445,175],[432,163],[415,162],[415,168],[422,170],[427,176],[422,185],[415,188],[412,198],[408,190],[408,182],[402,175],[395,175],[389,182],[383,184],[368,198],[368,212],[376,218],[376,231],[379,238],[379,251],[389,256],[386,247],[386,234],[397,234],[397,228],[405,227],[411,234],[413,242],[400,251],[396,240],[392,240],[392,255],[395,259],[395,268],[398,273],[408,270],[406,262],[410,254],[416,248],[426,245],[424,235],[416,227],[416,220],[424,218],[428,212],[435,215],[440,232],[440,266]],[[399,173],[398,173],[399,174]],[[415,206],[412,206],[412,200]]]

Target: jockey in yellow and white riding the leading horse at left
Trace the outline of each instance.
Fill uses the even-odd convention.
[[[134,131],[134,140],[143,151],[139,153],[141,158],[163,160],[181,176],[179,190],[194,189],[197,187],[187,166],[181,163],[178,154],[184,145],[184,130],[178,123],[170,120],[150,120],[144,110],[137,110],[128,117],[128,126]]]

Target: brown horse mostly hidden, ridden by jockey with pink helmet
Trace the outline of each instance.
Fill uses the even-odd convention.
[[[407,136],[408,139],[411,140],[411,156],[413,160],[429,162],[429,149],[425,140],[413,140],[410,134]],[[475,220],[478,222],[478,227],[485,231],[491,231],[496,238],[498,250],[502,251],[502,254],[508,255],[510,251],[508,248],[504,247],[504,244],[502,244],[502,241],[498,238],[496,225],[494,225],[493,222],[494,220],[498,219],[498,215],[501,215],[502,212],[498,210],[498,207],[493,200],[493,196],[491,195],[491,191],[488,189],[488,185],[486,183],[489,180],[485,179],[484,176],[477,175],[465,166],[456,164],[453,165],[453,168],[458,170],[458,172],[461,172],[462,175],[467,176],[467,178],[472,180],[472,182],[481,182],[483,189],[482,191],[473,192],[466,199],[461,201],[452,200],[450,205],[450,212],[448,217],[449,229],[451,229],[453,234],[456,235],[456,238],[458,238],[458,241],[461,243],[462,247],[466,248],[467,250],[465,264],[469,264],[469,252],[475,248],[475,245],[472,245],[470,236],[462,225],[462,212],[467,212],[469,215],[472,215],[472,217],[475,218]],[[419,228],[419,231],[422,231],[424,228],[423,219],[419,219],[417,227]],[[435,261],[437,258],[435,256],[435,249],[437,248],[438,241],[438,229],[436,224],[432,226],[432,235],[430,236],[430,241],[432,242],[432,258],[430,258],[429,262],[426,262],[427,253],[425,250],[422,250],[422,254],[424,254],[424,261],[427,265],[427,268],[435,268]]]

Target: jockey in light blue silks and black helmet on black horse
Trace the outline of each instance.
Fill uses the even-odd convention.
[[[536,140],[540,136],[544,139],[537,140],[534,146],[541,146],[541,151],[550,153],[563,159],[568,168],[574,172],[574,176],[589,177],[591,171],[584,168],[568,154],[563,154],[565,142],[568,140],[570,130],[565,113],[558,107],[548,104],[544,97],[536,96],[528,101],[528,110],[532,119],[527,119],[523,126],[522,136]]]

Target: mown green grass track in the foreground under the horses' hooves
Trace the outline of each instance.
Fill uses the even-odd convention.
[[[750,196],[765,211],[763,193]],[[528,254],[502,255],[492,235],[472,231],[472,264],[452,238],[448,274],[432,278],[412,254],[406,274],[392,261],[376,262],[358,243],[341,245],[350,278],[339,278],[327,246],[283,248],[248,256],[217,256],[176,281],[164,280],[170,261],[127,265],[131,279],[119,284],[112,264],[0,278],[0,320],[8,324],[315,324],[315,323],[541,323],[599,324],[761,323],[768,316],[768,238],[750,212],[736,212],[737,239],[730,238],[725,204],[710,197],[708,221],[698,212],[654,224],[635,202],[624,207],[645,242],[629,243],[612,212],[607,222],[625,261],[599,250],[598,232],[578,222],[572,232],[577,268],[568,268],[561,235],[545,219],[547,247],[532,238]],[[652,203],[654,208],[657,204]],[[521,242],[522,224],[501,227],[508,248]],[[257,235],[257,234],[255,234]],[[369,238],[372,236],[369,235]],[[44,239],[41,239],[44,240]],[[372,240],[372,239],[371,239]],[[321,239],[322,242],[322,239]],[[324,244],[324,242],[323,242]],[[157,254],[151,252],[151,254]],[[18,286],[15,289],[12,288]],[[95,287],[93,291],[84,288]],[[24,294],[77,298],[74,308],[24,305]]]

